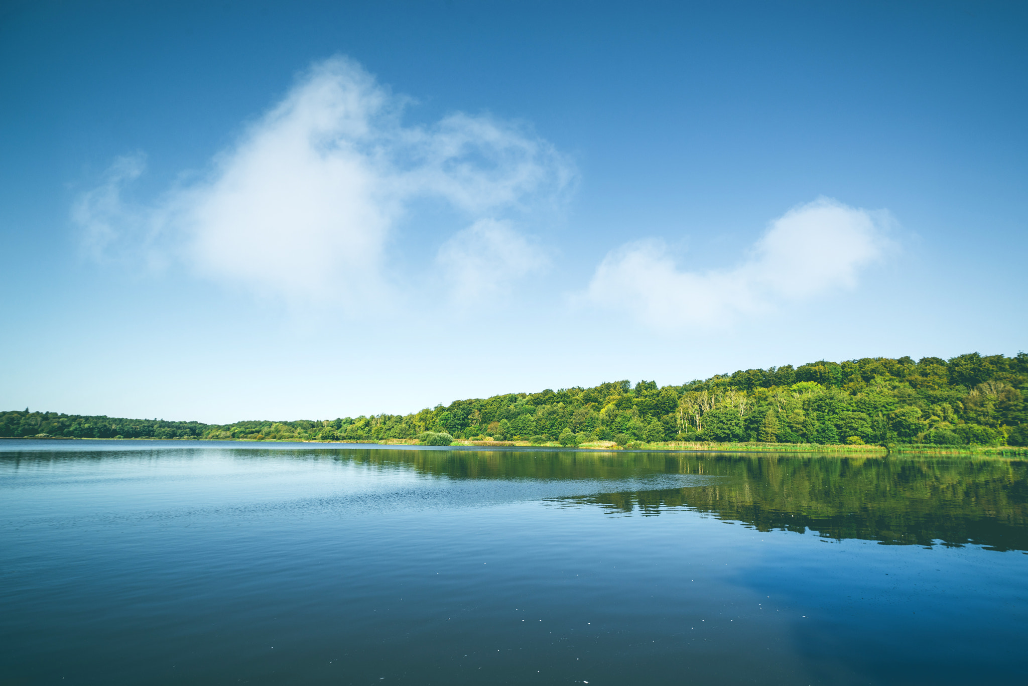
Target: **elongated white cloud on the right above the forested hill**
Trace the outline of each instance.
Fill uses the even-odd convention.
[[[660,241],[631,243],[603,259],[585,299],[658,328],[728,324],[740,315],[853,288],[859,272],[887,251],[891,221],[884,211],[818,198],[771,222],[743,263],[706,272],[678,270]]]

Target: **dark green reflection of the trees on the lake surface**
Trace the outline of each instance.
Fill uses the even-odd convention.
[[[714,484],[549,500],[612,513],[710,513],[760,531],[816,532],[886,545],[975,544],[1028,550],[1028,463],[1001,459],[839,458],[790,455],[554,450],[358,450],[366,463],[484,479],[637,479],[656,474],[724,477]]]

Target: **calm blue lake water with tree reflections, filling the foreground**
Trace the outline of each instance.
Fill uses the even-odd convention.
[[[0,442],[0,684],[1024,684],[1028,463]]]

